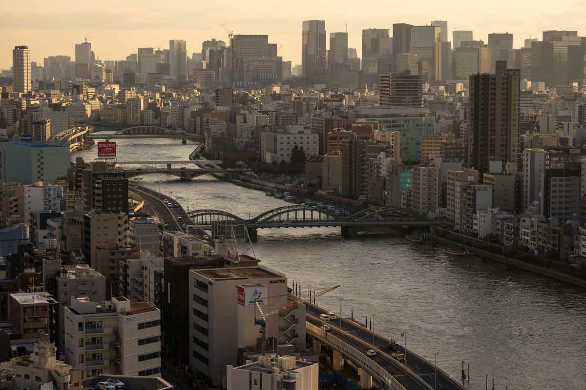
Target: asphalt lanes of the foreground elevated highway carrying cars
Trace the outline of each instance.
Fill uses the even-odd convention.
[[[316,308],[315,306],[306,306],[307,312],[310,313],[311,315],[313,315],[314,317],[319,317],[320,314],[327,314],[328,312],[326,310],[321,310]],[[314,320],[310,320],[308,319],[310,322],[314,323]],[[315,323],[315,325],[321,326],[323,325],[323,323],[317,322]],[[349,323],[349,322],[343,322],[342,323],[342,330],[343,333],[339,332],[339,327],[340,327],[340,321],[339,320],[335,320],[333,322],[328,323],[328,326],[332,329],[329,332],[333,332],[336,337],[339,337],[340,339],[343,340],[349,340],[347,338],[347,336],[344,336],[345,332],[351,332],[355,337],[358,337],[359,339],[364,340],[364,344],[358,344],[358,346],[356,346],[356,342],[351,340],[352,343],[349,342],[350,345],[352,345],[353,347],[357,348],[358,350],[364,350],[366,351],[366,347],[365,346],[369,346],[368,349],[373,349],[373,336],[371,333],[367,332],[366,328],[357,325],[357,324],[353,324],[353,323]],[[381,350],[384,353],[390,354],[390,350],[388,347],[389,344],[388,339],[381,337],[379,334],[376,334],[376,336],[374,336],[374,350]],[[431,386],[431,388],[435,388],[435,375],[436,375],[436,371],[434,368],[434,365],[431,364],[430,361],[427,361],[423,358],[420,358],[418,356],[415,356],[411,353],[411,351],[409,350],[405,350],[405,348],[403,346],[400,347],[401,351],[403,351],[403,353],[406,355],[406,360],[407,360],[407,367],[410,368],[411,371],[415,372],[415,374],[419,375],[419,377],[421,377],[425,382],[427,382],[428,385]],[[407,375],[405,371],[401,370],[400,367],[396,366],[396,361],[387,361],[386,359],[384,359],[381,356],[377,356],[377,357],[373,357],[373,359],[381,365],[381,367],[386,368],[391,375],[395,376],[395,375]],[[377,360],[380,359],[380,360]],[[415,381],[415,379],[410,378],[411,382],[408,382],[407,379],[404,379],[406,377],[404,376],[397,376],[396,379],[397,381],[399,381],[401,383],[401,385],[403,385],[406,389],[413,389],[413,388],[423,388],[423,386],[421,386],[421,384],[417,381]],[[407,377],[409,378],[409,377]],[[404,383],[405,381],[405,383]],[[413,385],[413,386],[412,386]],[[459,384],[456,384],[454,381],[452,381],[451,379],[449,379],[444,373],[437,371],[437,389],[449,389],[449,390],[461,390],[462,386]]]

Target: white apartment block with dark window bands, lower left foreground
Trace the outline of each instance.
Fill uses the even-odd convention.
[[[82,378],[161,371],[161,312],[149,302],[72,298],[65,308],[65,336],[66,362]]]

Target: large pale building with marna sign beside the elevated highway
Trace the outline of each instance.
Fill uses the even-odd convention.
[[[238,348],[258,348],[260,344],[260,327],[254,324],[255,302],[266,310],[283,306],[287,278],[263,267],[192,269],[188,286],[189,364],[218,385],[220,370],[236,364]],[[238,291],[238,299],[234,299],[234,291]],[[266,327],[267,351],[274,351],[278,344],[305,348],[305,320],[300,319],[305,319],[304,305],[272,316]]]

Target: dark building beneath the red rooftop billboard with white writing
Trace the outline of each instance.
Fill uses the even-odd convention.
[[[84,209],[128,213],[128,179],[124,171],[112,171],[106,163],[90,163],[83,170]]]

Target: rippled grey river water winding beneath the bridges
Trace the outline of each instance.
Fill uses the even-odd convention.
[[[118,160],[188,160],[195,144],[118,140]],[[96,147],[74,154],[96,158]],[[147,187],[184,208],[219,209],[248,218],[287,203],[212,177],[180,181],[145,175]],[[316,301],[434,359],[454,377],[470,365],[471,389],[586,389],[586,290],[479,258],[447,256],[404,236],[338,228],[265,229],[255,254],[307,289],[341,289]]]

